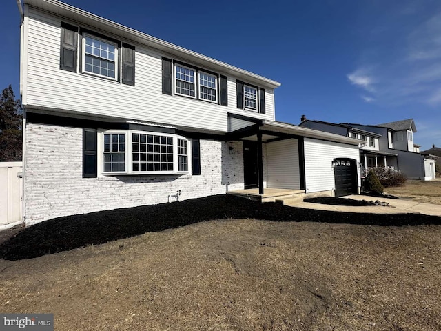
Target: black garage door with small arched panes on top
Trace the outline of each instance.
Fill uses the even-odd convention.
[[[352,159],[334,159],[334,178],[336,197],[357,194],[356,161]]]

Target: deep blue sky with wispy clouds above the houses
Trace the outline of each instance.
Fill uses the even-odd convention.
[[[413,118],[441,146],[441,1],[66,0],[88,12],[282,83],[276,120]],[[19,12],[0,12],[0,88],[19,97]]]

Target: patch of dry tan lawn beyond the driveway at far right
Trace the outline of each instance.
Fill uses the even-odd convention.
[[[441,205],[441,179],[416,181],[408,179],[403,186],[384,188],[384,192],[402,199]]]

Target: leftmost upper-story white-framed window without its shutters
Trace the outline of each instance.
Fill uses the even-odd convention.
[[[83,35],[83,72],[117,79],[118,46],[90,34]]]

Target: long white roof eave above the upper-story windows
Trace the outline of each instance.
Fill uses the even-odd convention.
[[[66,17],[72,21],[76,21],[93,28],[97,28],[103,32],[111,32],[116,36],[122,37],[123,39],[135,41],[136,43],[141,43],[146,46],[156,48],[168,54],[175,55],[176,57],[181,57],[182,59],[187,59],[189,61],[196,62],[201,66],[207,66],[209,68],[216,68],[226,74],[232,74],[234,77],[245,79],[250,81],[250,83],[258,83],[260,86],[266,86],[269,88],[278,88],[280,83],[267,79],[265,77],[259,76],[247,70],[231,66],[222,61],[206,57],[203,54],[199,54],[192,50],[187,50],[186,48],[176,46],[173,43],[163,41],[161,39],[150,36],[143,32],[139,32],[127,26],[123,26],[114,21],[104,19],[98,15],[86,12],[74,6],[70,6],[67,3],[63,3],[57,0],[24,0],[25,4],[38,8],[40,10],[45,10],[51,12],[52,14],[57,14],[61,17]]]

